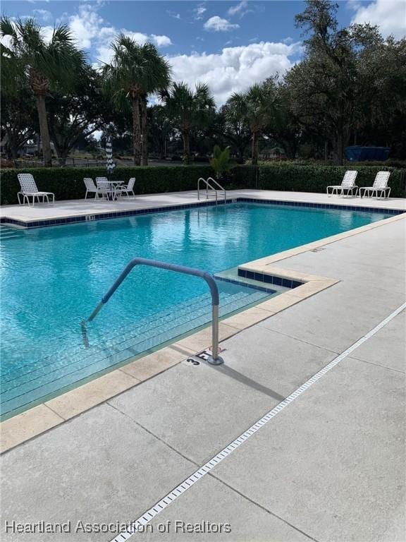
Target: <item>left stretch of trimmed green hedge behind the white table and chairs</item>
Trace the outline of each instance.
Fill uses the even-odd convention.
[[[39,191],[54,192],[56,200],[85,198],[84,177],[106,176],[104,167],[35,167],[1,171],[1,204],[18,203],[18,173],[32,173]],[[207,179],[214,172],[210,166],[123,167],[114,170],[111,179],[128,182],[135,177],[135,193],[149,194],[196,190],[197,179]]]

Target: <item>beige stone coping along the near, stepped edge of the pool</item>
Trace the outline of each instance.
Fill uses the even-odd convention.
[[[290,203],[286,202],[286,205],[290,205]],[[333,207],[336,206],[333,205]],[[355,207],[351,207],[351,210],[354,209]],[[167,207],[166,210],[168,210]],[[232,337],[242,330],[340,282],[332,277],[309,275],[308,273],[288,270],[272,264],[405,218],[406,212],[402,211],[401,214],[395,214],[393,217],[239,265],[238,269],[242,271],[281,277],[302,284],[293,290],[286,291],[272,299],[262,301],[254,307],[247,308],[245,311],[243,310],[221,320],[219,325],[220,341],[228,339],[228,337]],[[208,326],[177,342],[173,342],[170,346],[159,349],[152,354],[137,357],[135,361],[129,360],[128,363],[118,369],[112,369],[109,373],[96,377],[90,382],[2,421],[0,423],[0,453],[11,450],[13,447],[59,426],[75,416],[79,416],[83,412],[139,385],[145,380],[167,371],[188,357],[207,349],[210,343],[211,333],[210,326]]]

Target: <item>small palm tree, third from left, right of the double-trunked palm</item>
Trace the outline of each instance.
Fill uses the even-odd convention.
[[[216,103],[211,97],[209,87],[203,83],[196,85],[195,91],[186,83],[173,83],[169,92],[161,93],[171,117],[183,138],[183,162],[190,163],[190,131],[195,127],[209,124],[214,116]]]

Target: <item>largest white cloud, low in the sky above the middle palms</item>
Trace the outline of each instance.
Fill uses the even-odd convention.
[[[169,56],[173,79],[194,87],[197,81],[207,83],[217,105],[233,92],[246,90],[275,73],[283,74],[291,66],[290,56],[300,51],[300,43],[260,42],[242,47],[226,47],[220,53],[193,53]]]

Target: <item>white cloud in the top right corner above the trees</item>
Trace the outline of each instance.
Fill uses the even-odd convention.
[[[405,37],[406,4],[404,0],[375,0],[367,6],[353,3],[357,11],[352,23],[378,25],[383,36],[393,34],[400,39]]]

